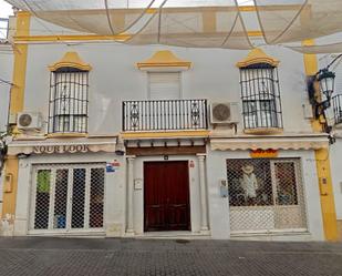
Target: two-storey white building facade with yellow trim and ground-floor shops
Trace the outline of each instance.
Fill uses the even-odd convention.
[[[338,238],[312,57],[17,24],[4,235]]]

